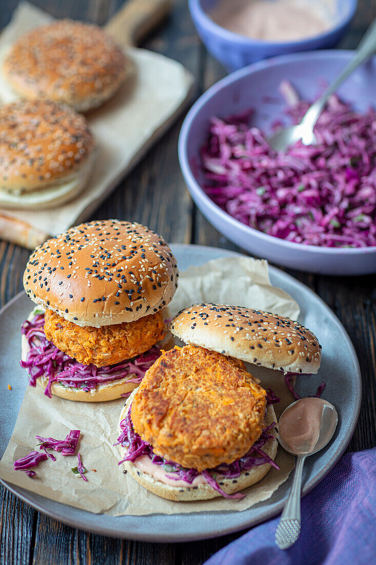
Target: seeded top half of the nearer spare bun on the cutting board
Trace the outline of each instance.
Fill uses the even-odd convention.
[[[84,116],[45,100],[0,108],[0,189],[26,193],[75,175],[93,153]]]

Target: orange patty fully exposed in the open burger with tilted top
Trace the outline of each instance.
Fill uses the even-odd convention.
[[[132,403],[154,453],[203,471],[242,457],[259,438],[266,393],[238,360],[194,345],[166,351]]]

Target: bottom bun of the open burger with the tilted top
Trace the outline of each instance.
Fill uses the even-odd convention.
[[[128,412],[130,403],[133,400],[134,394],[137,392],[137,389],[133,391],[130,395],[126,404],[121,411],[120,421],[123,420]],[[277,422],[276,414],[274,412],[274,408],[272,405],[266,408],[266,415],[265,415],[265,426],[272,424],[273,422]],[[121,428],[119,427],[119,433],[121,432]],[[269,455],[270,458],[273,460],[276,458],[277,454],[277,447],[278,447],[278,432],[276,428],[270,430],[270,434],[273,435],[273,439],[268,440],[266,444],[263,446],[263,451]],[[123,446],[119,445],[121,457],[124,457],[125,449]],[[133,479],[137,481],[137,483],[141,484],[150,492],[157,494],[162,498],[167,498],[168,500],[173,500],[176,502],[179,501],[195,501],[195,500],[208,500],[210,498],[217,498],[220,497],[221,494],[214,490],[210,485],[207,483],[200,484],[194,487],[185,487],[185,486],[170,486],[162,481],[155,479],[149,473],[139,470],[134,463],[130,461],[124,462],[124,466],[127,471],[132,475]],[[221,488],[227,494],[234,494],[243,489],[246,489],[248,486],[254,485],[258,483],[266,473],[270,469],[269,463],[264,463],[258,467],[253,467],[249,471],[243,472],[238,479],[220,479],[217,477],[217,480],[221,483]],[[234,483],[234,481],[236,481]]]

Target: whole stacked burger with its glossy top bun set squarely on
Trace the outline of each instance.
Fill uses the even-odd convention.
[[[165,316],[177,277],[169,246],[134,222],[91,221],[37,247],[24,272],[37,305],[22,328],[29,384],[86,402],[130,393],[173,345]]]

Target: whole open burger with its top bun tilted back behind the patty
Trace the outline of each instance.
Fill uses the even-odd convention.
[[[312,369],[320,364],[317,339],[288,318],[214,304],[186,308],[170,330],[187,345],[165,351],[125,403],[120,463],[169,500],[243,498],[239,491],[279,469],[279,399],[244,361]]]

